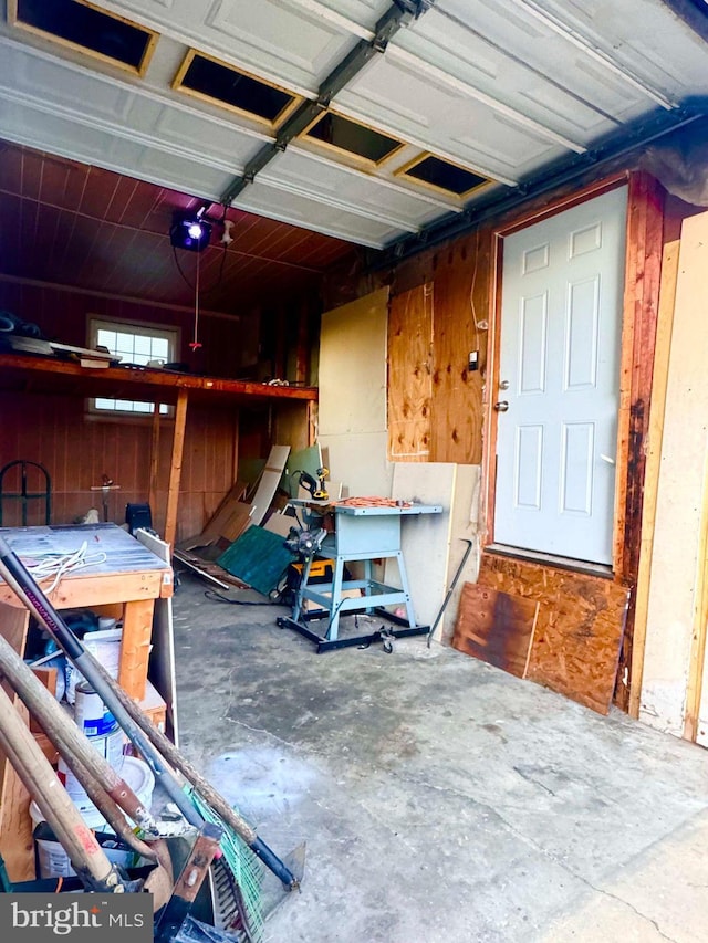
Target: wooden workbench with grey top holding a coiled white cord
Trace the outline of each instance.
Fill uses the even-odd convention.
[[[118,683],[136,701],[154,701],[147,668],[155,600],[173,595],[173,569],[116,524],[43,527],[2,527],[0,534],[32,573],[31,560],[49,554],[65,555],[86,543],[86,554],[105,558],[66,573],[46,593],[55,609],[91,609],[123,621]],[[51,585],[51,581],[50,581]],[[46,590],[48,581],[40,583]],[[30,614],[0,578],[0,632],[23,653]],[[8,693],[20,712],[24,706]],[[29,797],[6,757],[0,753],[0,852],[10,879],[34,877],[32,822]]]

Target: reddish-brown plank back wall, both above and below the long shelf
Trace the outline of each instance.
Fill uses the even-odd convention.
[[[86,344],[90,314],[177,325],[181,328],[180,359],[189,363],[194,371],[238,376],[238,321],[204,318],[200,325],[204,347],[197,355],[202,362],[198,363],[188,347],[192,323],[187,312],[1,279],[0,308],[38,324],[46,336],[76,346]],[[101,484],[104,473],[121,485],[110,497],[111,520],[122,523],[126,503],[148,501],[150,419],[90,417],[82,397],[2,392],[0,423],[0,467],[14,459],[29,459],[49,470],[53,523],[71,523],[92,506],[102,513],[101,494],[92,492],[91,485]],[[238,425],[236,407],[207,410],[189,406],[177,539],[200,532],[233,483]],[[268,429],[268,418],[263,425]],[[173,428],[170,420],[160,420],[157,488],[152,507],[153,525],[160,533],[165,524]],[[29,523],[41,521],[37,516]],[[17,520],[6,516],[4,523],[12,525]]]

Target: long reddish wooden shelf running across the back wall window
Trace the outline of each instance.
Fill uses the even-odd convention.
[[[59,357],[0,352],[0,388],[17,392],[52,392],[177,402],[180,390],[190,402],[273,402],[317,399],[315,387],[270,386],[252,380],[201,377],[147,367],[82,367]]]

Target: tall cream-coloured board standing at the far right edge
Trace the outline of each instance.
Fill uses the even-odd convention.
[[[707,270],[708,212],[702,212],[684,220],[681,227],[639,711],[652,726],[704,743],[708,725],[708,703],[700,704],[708,611]]]

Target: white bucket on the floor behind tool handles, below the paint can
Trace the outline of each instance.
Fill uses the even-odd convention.
[[[146,809],[149,809],[153,803],[153,789],[155,788],[155,777],[153,776],[153,772],[149,766],[142,759],[137,759],[135,756],[126,756],[123,764],[122,776],[136,794],[142,805],[145,806]],[[92,803],[86,799],[85,803],[74,804],[77,806],[81,817],[88,828],[92,828],[94,831],[100,834],[106,834],[105,839],[100,838],[102,844],[113,835],[106,824],[106,820]],[[34,801],[30,804],[30,817],[32,818],[34,828],[37,828],[40,822],[44,821],[44,816],[42,815],[40,807]],[[56,839],[35,838],[35,844],[39,870],[38,877],[67,878],[75,873],[74,869],[71,867],[69,855],[66,855]],[[132,852],[126,852],[123,849],[111,848],[110,845],[104,845],[103,850],[106,852],[108,859],[117,865],[129,867],[133,863]]]

